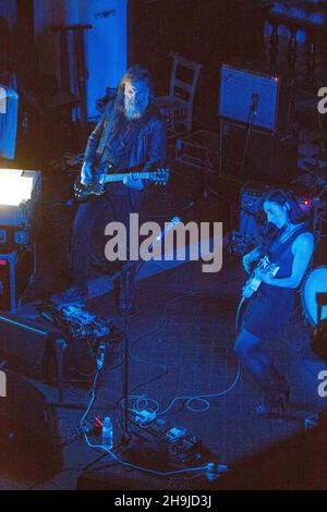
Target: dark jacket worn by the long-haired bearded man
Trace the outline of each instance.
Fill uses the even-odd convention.
[[[104,147],[110,132],[111,114],[113,106],[108,105],[100,121],[88,137],[84,161],[98,162],[101,159]],[[106,130],[107,129],[107,130]],[[141,167],[148,171],[155,167],[161,167],[166,161],[167,129],[166,121],[159,110],[150,105],[141,123],[138,133],[130,151],[129,167]]]

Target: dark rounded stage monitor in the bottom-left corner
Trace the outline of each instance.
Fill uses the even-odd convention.
[[[0,398],[0,468],[24,480],[47,479],[60,471],[61,453],[53,410],[45,395],[19,374],[3,369]]]

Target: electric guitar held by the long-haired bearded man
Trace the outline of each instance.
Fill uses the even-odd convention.
[[[128,176],[135,180],[150,180],[156,185],[166,185],[170,174],[169,169],[157,169],[152,172],[111,173],[113,169],[111,163],[95,167],[93,183],[90,185],[83,185],[81,183],[81,176],[78,176],[74,184],[75,198],[80,202],[84,202],[92,196],[100,196],[106,192],[105,185],[107,183],[123,182]]]

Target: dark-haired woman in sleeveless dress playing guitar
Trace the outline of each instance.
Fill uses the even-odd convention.
[[[277,233],[266,249],[256,247],[246,254],[243,266],[250,273],[251,263],[268,253],[279,270],[274,278],[256,272],[262,284],[247,303],[234,350],[264,393],[256,412],[269,417],[284,412],[290,389],[277,371],[265,342],[274,339],[292,316],[295,290],[310,264],[314,237],[292,194],[281,190],[269,192],[263,199],[263,211]]]

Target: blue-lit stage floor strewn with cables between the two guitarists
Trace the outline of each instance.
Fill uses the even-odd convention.
[[[193,193],[194,190],[186,191],[182,198],[180,194],[172,203],[168,190],[161,202],[153,203],[154,220],[159,217],[169,220],[182,211],[194,197]],[[195,220],[211,219],[228,224],[230,216],[227,210],[223,198],[218,203],[199,199],[185,216],[191,219],[194,215]],[[149,212],[147,209],[146,217]],[[144,402],[140,404],[158,407],[162,419],[172,426],[184,427],[189,435],[198,436],[219,463],[229,467],[303,430],[305,418],[327,407],[326,399],[317,393],[317,375],[326,369],[326,363],[317,359],[310,349],[311,327],[304,321],[299,296],[292,320],[281,336],[271,341],[276,364],[291,383],[290,406],[283,417],[263,418],[255,414],[258,390],[247,375],[239,371],[233,353],[235,313],[245,279],[241,258],[226,251],[222,269],[217,273],[203,273],[202,261],[189,261],[167,269],[161,266],[158,273],[137,281],[136,313],[130,321],[130,406],[142,399]],[[88,306],[98,315],[121,322],[112,293],[88,301]],[[112,353],[108,351],[89,414],[89,418],[109,415],[113,419],[116,442],[122,436],[123,411],[118,402],[123,397],[123,378],[121,343],[113,348]],[[41,389],[49,400],[56,400],[56,389],[47,386],[41,386]],[[65,400],[69,402],[82,402],[86,409],[89,399],[87,388],[70,385],[66,389]],[[57,410],[61,442],[66,441],[62,448],[60,473],[50,480],[37,483],[13,480],[3,474],[0,488],[75,489],[83,470],[101,454],[101,451],[88,448],[83,438],[70,442],[82,415],[83,411]],[[152,448],[156,456],[149,456],[138,439],[137,427],[132,444],[134,463],[165,472],[166,462],[160,460],[154,443]],[[131,460],[129,447],[119,448],[117,453],[122,461]],[[107,462],[110,489],[114,489],[114,485],[117,489],[128,489],[130,484],[126,481],[131,479],[134,481],[131,486],[136,483],[136,488],[145,485],[143,488],[148,489],[179,486],[192,489],[196,484],[194,478],[185,475],[182,475],[182,481],[180,478],[153,477],[146,472],[124,467],[117,461],[112,463],[110,455],[101,460],[101,465]],[[202,480],[202,488],[210,486],[208,480]]]

